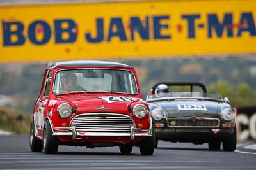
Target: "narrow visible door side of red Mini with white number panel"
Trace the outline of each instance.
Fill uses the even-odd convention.
[[[45,107],[47,106],[50,94],[52,71],[47,71],[44,82],[44,87],[36,101],[35,106],[35,135],[42,138],[45,124]]]

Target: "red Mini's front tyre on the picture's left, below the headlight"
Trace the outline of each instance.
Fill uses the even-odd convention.
[[[48,120],[45,121],[44,137],[43,137],[43,152],[46,154],[55,154],[58,152],[58,139],[52,136],[51,125]]]

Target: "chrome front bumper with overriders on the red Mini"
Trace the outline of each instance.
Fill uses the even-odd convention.
[[[134,141],[135,136],[152,136],[152,129],[138,129],[138,128],[134,128],[134,126],[131,126],[130,132],[77,132],[75,126],[55,127],[54,130],[67,131],[67,132],[53,132],[52,135],[72,136],[73,140],[79,139],[79,137],[81,138],[81,136],[130,136],[131,141]]]

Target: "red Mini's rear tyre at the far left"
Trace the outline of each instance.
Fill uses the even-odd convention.
[[[31,123],[31,126],[30,126],[29,146],[32,152],[42,152],[43,150],[42,141],[40,139],[37,139],[35,136],[34,121]]]

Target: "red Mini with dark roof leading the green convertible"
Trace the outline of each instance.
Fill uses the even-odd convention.
[[[118,62],[66,61],[45,69],[33,111],[32,152],[56,153],[59,145],[119,146],[154,153],[154,132],[133,67]]]

